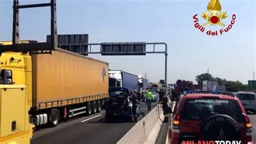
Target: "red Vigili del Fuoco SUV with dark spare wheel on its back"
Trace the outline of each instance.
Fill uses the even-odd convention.
[[[252,124],[241,101],[230,95],[180,95],[169,123],[168,143],[238,140],[253,143]]]

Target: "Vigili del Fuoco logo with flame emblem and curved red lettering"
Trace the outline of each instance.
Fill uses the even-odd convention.
[[[230,24],[225,25],[223,20],[225,20],[228,17],[227,12],[221,11],[221,5],[219,0],[210,0],[210,2],[207,5],[208,12],[203,12],[203,15],[201,17],[206,20],[206,22],[203,25],[199,24],[198,14],[193,16],[194,19],[194,27],[198,29],[200,32],[206,33],[206,35],[210,36],[218,36],[223,35],[224,33],[227,33],[230,31],[235,23],[235,14],[232,15]],[[222,29],[219,30],[206,30],[206,27],[209,27],[208,25],[213,26],[221,26]]]

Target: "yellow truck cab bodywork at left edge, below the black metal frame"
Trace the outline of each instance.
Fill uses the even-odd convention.
[[[11,42],[0,42],[9,45]],[[25,42],[27,43],[27,42]],[[0,77],[0,143],[30,143],[33,125],[29,123],[26,85],[31,80],[29,54],[4,52],[1,54]]]

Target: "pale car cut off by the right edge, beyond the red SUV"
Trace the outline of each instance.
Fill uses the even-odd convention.
[[[241,100],[242,105],[244,106],[246,111],[251,111],[253,113],[256,113],[255,93],[240,91],[233,94],[236,95]]]

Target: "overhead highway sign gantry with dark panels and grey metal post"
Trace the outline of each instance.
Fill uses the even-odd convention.
[[[50,36],[47,37],[50,43]],[[146,49],[153,46],[152,51]],[[93,47],[92,46],[96,46]],[[163,46],[164,50],[159,50]],[[146,54],[164,54],[165,56],[165,93],[167,93],[167,44],[146,42],[109,42],[88,43],[88,35],[58,35],[58,47],[87,56],[101,54],[102,56],[145,56]],[[98,49],[95,49],[97,48]],[[96,50],[96,51],[95,51]]]

